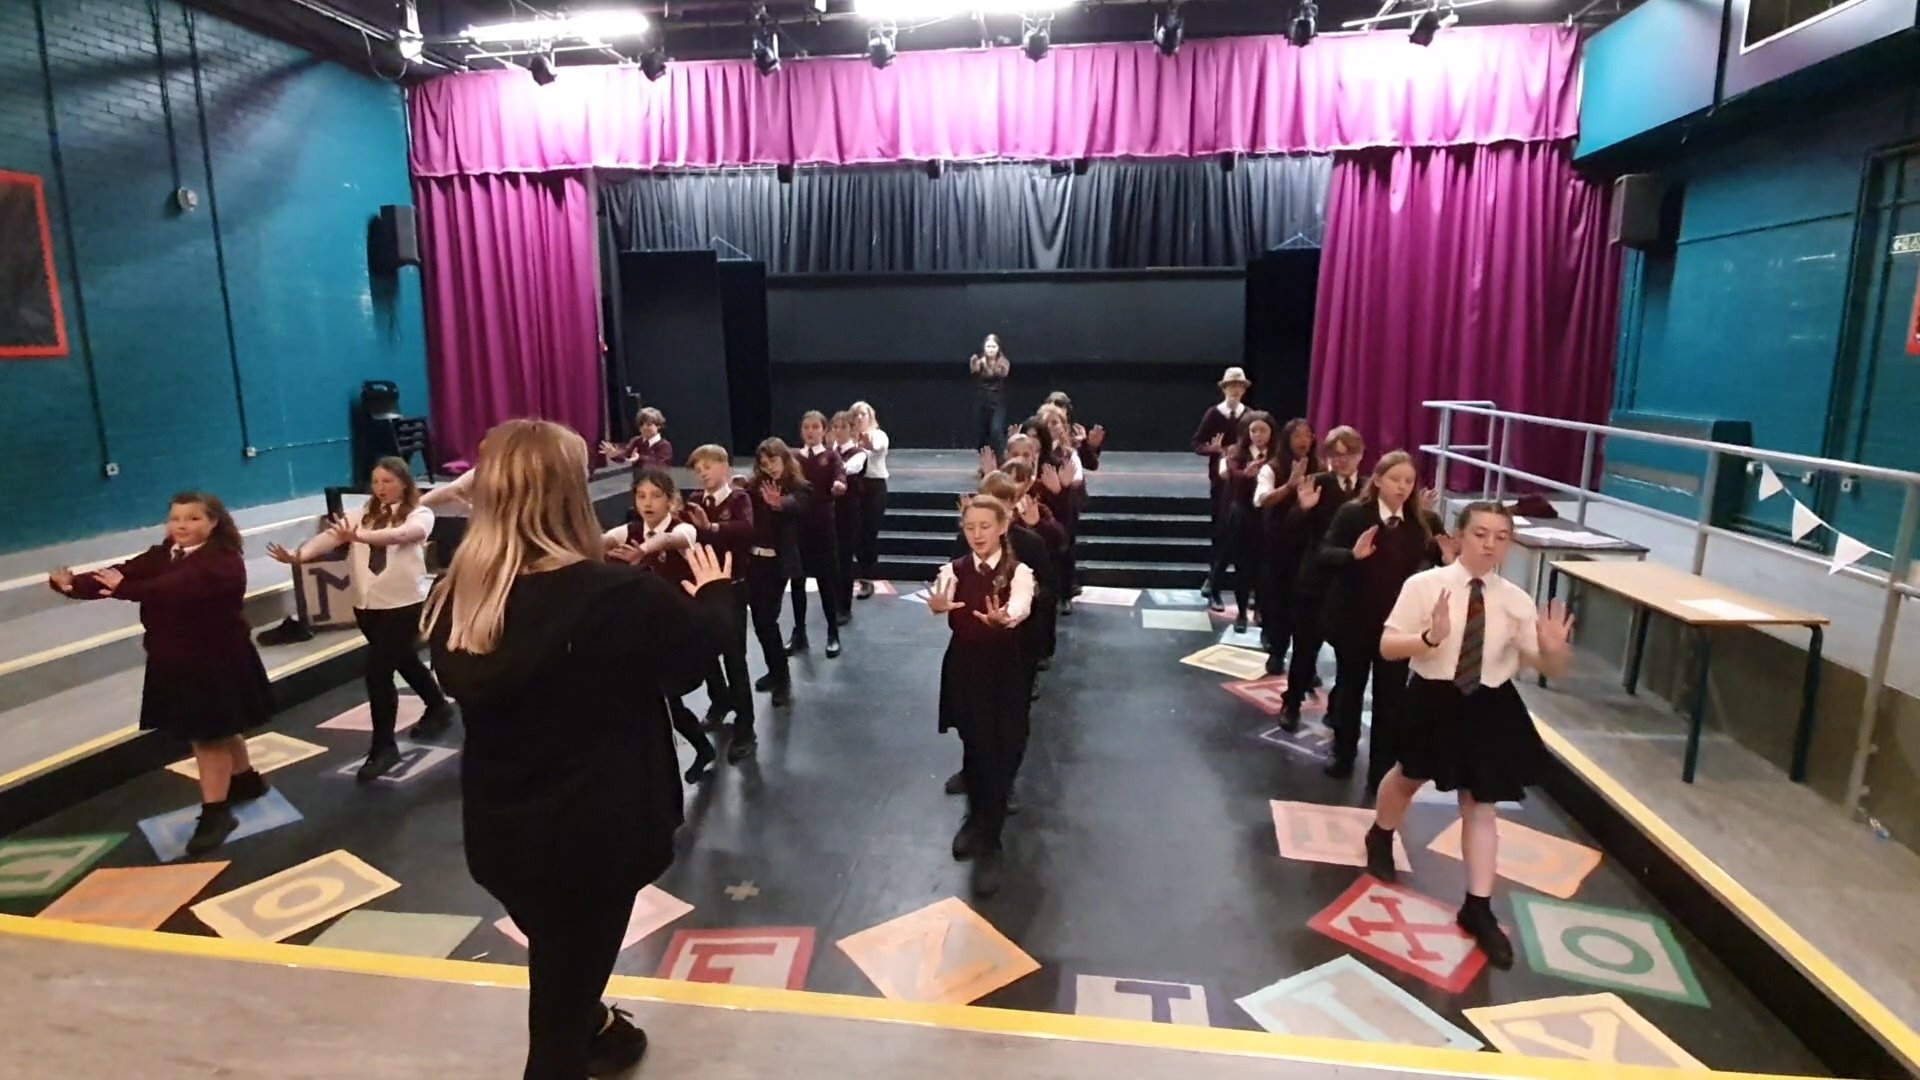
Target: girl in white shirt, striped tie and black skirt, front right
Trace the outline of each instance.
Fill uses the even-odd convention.
[[[1380,634],[1380,655],[1409,663],[1400,763],[1380,780],[1367,832],[1367,872],[1392,882],[1394,830],[1413,796],[1432,782],[1459,792],[1467,899],[1459,928],[1498,969],[1513,967],[1513,942],[1488,907],[1500,861],[1498,805],[1526,798],[1546,749],[1513,678],[1521,667],[1548,676],[1572,663],[1572,615],[1559,601],[1534,609],[1524,588],[1500,577],[1513,544],[1513,511],[1494,502],[1459,513],[1459,555],[1407,578]]]

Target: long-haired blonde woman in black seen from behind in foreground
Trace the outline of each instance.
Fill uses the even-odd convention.
[[[495,427],[474,471],[472,525],[424,615],[467,723],[467,869],[526,934],[526,1080],[612,1076],[647,1036],[599,997],[682,824],[666,696],[730,632],[728,565],[695,548],[676,588],[603,561],[588,444],[563,425]]]

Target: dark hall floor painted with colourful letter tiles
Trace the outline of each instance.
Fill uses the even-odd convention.
[[[1699,942],[1668,926],[1611,859],[1582,878],[1580,849],[1546,838],[1523,844],[1524,834],[1509,842],[1511,871],[1538,888],[1503,880],[1498,890],[1496,911],[1521,951],[1515,970],[1498,972],[1475,970],[1476,953],[1444,926],[1425,928],[1432,915],[1417,896],[1352,894],[1371,888],[1359,871],[1283,857],[1269,799],[1311,803],[1281,809],[1292,844],[1306,847],[1296,853],[1342,857],[1357,849],[1357,834],[1342,836],[1327,807],[1352,807],[1357,782],[1325,778],[1311,742],[1263,740],[1273,719],[1256,703],[1265,701],[1260,688],[1242,698],[1223,688],[1227,675],[1183,665],[1181,657],[1213,646],[1223,625],[1204,609],[1175,605],[1190,598],[1162,600],[1173,603],[1150,596],[1133,609],[1083,601],[1062,623],[1060,659],[1043,676],[1033,749],[1020,778],[1025,809],[1008,830],[1008,886],[977,905],[968,897],[968,869],[947,851],[962,799],[941,792],[960,746],[935,734],[933,719],[945,625],[902,598],[858,603],[847,653],[828,661],[816,650],[797,661],[793,709],[762,711],[758,759],[722,767],[689,790],[682,855],[659,888],[691,909],[666,920],[680,907],[655,903],[657,928],[622,953],[620,970],[856,995],[885,988],[912,999],[1375,1042],[1490,1043],[1559,1057],[1572,1055],[1565,1049],[1572,1045],[1617,1055],[1601,1061],[1692,1057],[1713,1068],[1820,1072],[1789,1028]],[[324,944],[522,963],[522,947],[493,926],[499,907],[465,871],[457,757],[424,761],[405,782],[355,786],[342,769],[357,765],[365,736],[317,724],[359,701],[359,686],[346,686],[278,719],[276,732],[324,748],[271,774],[303,819],[230,842],[217,855],[230,865],[192,899],[348,851],[376,874],[336,872],[321,884],[202,911],[227,936],[273,936],[275,926],[301,922],[311,909],[332,915],[284,940],[326,936]],[[1319,730],[1309,715],[1309,738]],[[186,778],[154,773],[12,840],[129,834],[92,867],[152,867],[154,849],[136,822],[192,801]],[[1548,838],[1588,842],[1544,798],[1509,817]],[[1450,824],[1446,803],[1415,809],[1405,828],[1413,872],[1402,876],[1405,890],[1436,897],[1448,917],[1463,867],[1428,844]],[[50,888],[65,888],[84,869]],[[386,888],[378,874],[397,888],[378,894]],[[349,878],[353,884],[340,884]],[[102,892],[111,892],[108,884]],[[334,919],[367,894],[376,896]],[[8,896],[4,886],[0,896]],[[50,899],[13,896],[0,909],[36,915]],[[1357,907],[1329,928],[1357,932],[1363,947],[1315,928],[1327,926],[1317,917],[1342,899]],[[127,907],[125,897],[115,903]],[[922,913],[929,905],[943,907]],[[962,905],[991,930],[972,922]],[[394,926],[369,917],[372,911],[451,919]],[[876,932],[912,913],[922,915]],[[1396,920],[1411,932],[1394,930]],[[209,932],[186,907],[163,928]],[[687,934],[707,930],[733,934]],[[1417,969],[1428,974],[1411,974]],[[1536,1005],[1465,1013],[1517,1003]]]

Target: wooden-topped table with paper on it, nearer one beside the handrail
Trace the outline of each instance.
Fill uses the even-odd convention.
[[[1699,682],[1693,688],[1693,726],[1686,738],[1686,767],[1680,778],[1693,782],[1699,765],[1699,736],[1707,723],[1707,663],[1713,655],[1713,630],[1726,626],[1807,626],[1812,642],[1807,648],[1807,673],[1801,676],[1801,715],[1793,730],[1793,763],[1788,776],[1807,782],[1807,751],[1812,746],[1814,701],[1820,696],[1820,646],[1826,636],[1826,615],[1784,607],[1711,582],[1661,563],[1553,563],[1548,571],[1548,600],[1559,584],[1559,575],[1582,586],[1603,588],[1634,605],[1634,640],[1626,653],[1626,692],[1640,686],[1640,659],[1647,650],[1649,613],[1659,611],[1690,626],[1699,642]],[[1546,686],[1546,678],[1540,678]]]

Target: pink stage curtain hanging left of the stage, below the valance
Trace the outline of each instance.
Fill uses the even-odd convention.
[[[513,417],[601,436],[593,200],[582,173],[415,179],[434,444]]]

